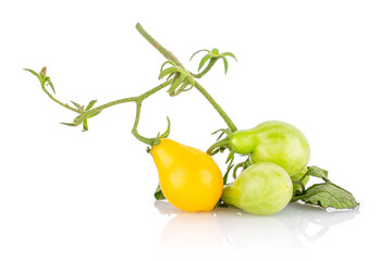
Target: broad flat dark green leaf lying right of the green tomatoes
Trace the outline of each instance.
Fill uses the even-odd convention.
[[[359,206],[351,192],[333,183],[313,185],[298,199],[321,208],[356,209]]]

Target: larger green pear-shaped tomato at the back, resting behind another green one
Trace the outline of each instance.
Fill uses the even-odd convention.
[[[303,171],[310,158],[305,135],[284,122],[270,121],[250,129],[237,130],[231,135],[230,144],[235,152],[250,154],[252,163],[275,163],[291,177]]]

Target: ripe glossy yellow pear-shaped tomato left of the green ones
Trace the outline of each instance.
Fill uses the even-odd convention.
[[[201,150],[171,139],[151,149],[164,197],[184,211],[210,211],[223,190],[222,173]]]

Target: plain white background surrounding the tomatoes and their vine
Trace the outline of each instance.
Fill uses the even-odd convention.
[[[390,248],[391,1],[2,1],[0,260],[379,259]],[[302,129],[310,165],[352,191],[359,210],[291,204],[272,216],[184,213],[156,202],[158,175],[131,135],[135,104],[90,130],[22,69],[48,75],[64,102],[97,104],[157,86],[166,61],[142,25],[196,71],[203,48],[231,51],[199,83],[238,128],[281,120]],[[192,90],[144,103],[139,132],[206,150],[225,127]],[[224,169],[225,154],[217,162]],[[387,235],[387,239],[383,238]],[[140,256],[142,254],[142,256]],[[136,259],[136,257],[138,257]],[[272,258],[272,259],[271,259]],[[274,259],[273,259],[274,258]]]

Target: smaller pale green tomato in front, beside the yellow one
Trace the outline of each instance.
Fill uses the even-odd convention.
[[[293,196],[293,183],[279,165],[261,162],[244,172],[224,187],[223,202],[250,214],[269,215],[281,211]]]

